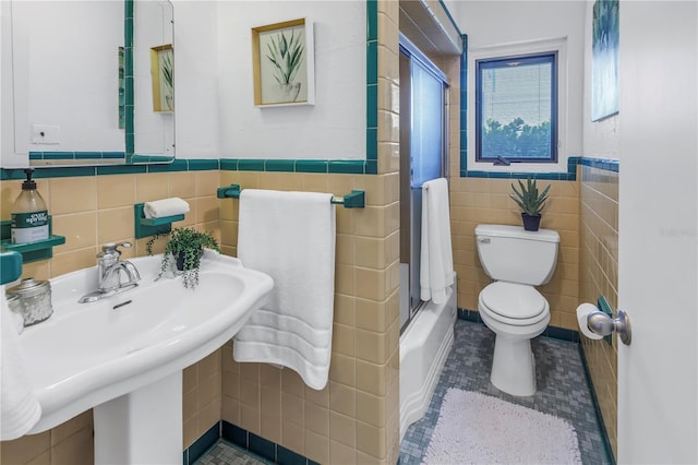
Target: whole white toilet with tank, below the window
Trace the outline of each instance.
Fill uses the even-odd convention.
[[[512,395],[535,393],[535,359],[531,338],[550,321],[547,300],[533,286],[547,283],[555,271],[559,235],[550,229],[478,225],[478,254],[495,282],[478,298],[484,324],[496,334],[490,380]]]

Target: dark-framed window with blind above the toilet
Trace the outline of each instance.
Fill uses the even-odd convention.
[[[557,162],[557,52],[476,61],[476,162]]]

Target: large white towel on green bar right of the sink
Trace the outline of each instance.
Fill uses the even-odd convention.
[[[280,365],[305,384],[327,384],[335,296],[332,194],[245,189],[238,258],[274,278],[267,303],[234,337],[238,361]]]

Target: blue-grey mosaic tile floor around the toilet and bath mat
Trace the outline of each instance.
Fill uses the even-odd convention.
[[[571,422],[579,439],[585,464],[607,464],[591,393],[577,344],[546,337],[531,343],[537,363],[538,392],[531,397],[515,397],[498,391],[490,382],[494,333],[479,323],[458,320],[455,342],[424,418],[411,425],[400,444],[400,465],[421,464],[442,401],[448,388],[477,391],[529,408],[555,415]],[[454,463],[458,463],[454,458]],[[239,449],[219,442],[198,465],[265,464]]]

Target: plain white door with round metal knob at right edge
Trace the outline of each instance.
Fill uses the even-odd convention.
[[[618,462],[698,463],[698,3],[621,2]]]

